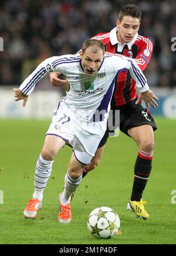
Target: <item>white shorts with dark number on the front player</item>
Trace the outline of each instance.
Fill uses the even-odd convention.
[[[89,164],[106,132],[107,119],[102,122],[84,122],[74,117],[64,100],[60,100],[46,135],[61,137],[72,147],[80,163]]]

